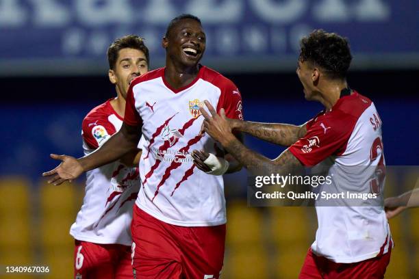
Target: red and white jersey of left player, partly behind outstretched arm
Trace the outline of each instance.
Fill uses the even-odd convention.
[[[92,109],[82,124],[84,155],[105,143],[122,124],[110,100]],[[70,234],[81,241],[131,245],[132,207],[139,187],[138,168],[119,161],[86,172],[83,204]]]

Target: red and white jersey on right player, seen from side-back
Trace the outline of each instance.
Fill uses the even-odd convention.
[[[331,111],[309,120],[305,137],[289,148],[303,165],[316,165],[333,177],[331,185],[324,183],[313,191],[375,193],[380,197],[372,204],[343,198],[335,205],[345,206],[334,207],[316,200],[318,230],[312,251],[336,263],[364,261],[392,246],[380,196],[385,175],[381,125],[374,103],[353,92],[342,96]]]

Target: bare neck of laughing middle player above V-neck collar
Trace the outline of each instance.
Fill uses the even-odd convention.
[[[198,75],[199,65],[182,66],[175,62],[166,62],[164,79],[175,89],[188,86]]]

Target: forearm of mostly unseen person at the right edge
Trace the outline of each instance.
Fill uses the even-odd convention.
[[[385,215],[388,219],[397,216],[409,207],[419,207],[419,189],[407,191],[400,196],[384,200]]]

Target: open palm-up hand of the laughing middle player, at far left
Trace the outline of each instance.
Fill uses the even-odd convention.
[[[42,176],[50,177],[49,184],[60,185],[64,181],[71,183],[71,181],[84,172],[83,167],[75,157],[55,154],[51,154],[50,156],[52,159],[61,160],[62,162],[57,168],[42,174]]]

